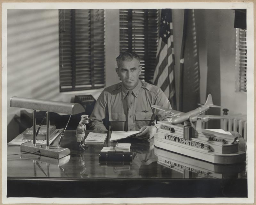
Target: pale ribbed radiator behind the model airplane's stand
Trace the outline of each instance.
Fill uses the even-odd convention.
[[[228,116],[233,117],[233,116]],[[225,131],[237,131],[247,141],[247,116],[236,115],[233,119],[221,120],[221,129]]]

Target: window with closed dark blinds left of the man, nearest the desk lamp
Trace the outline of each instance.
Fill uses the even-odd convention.
[[[103,9],[59,10],[60,92],[105,86]]]

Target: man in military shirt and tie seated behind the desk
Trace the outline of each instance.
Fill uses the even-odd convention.
[[[120,83],[109,86],[100,94],[90,116],[93,130],[138,131],[138,138],[150,139],[157,132],[154,125],[158,120],[168,120],[171,116],[156,111],[151,105],[171,109],[164,92],[155,85],[139,80],[140,57],[126,51],[117,58],[116,73]],[[169,121],[169,120],[168,120]]]

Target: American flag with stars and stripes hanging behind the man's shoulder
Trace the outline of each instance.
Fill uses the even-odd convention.
[[[156,54],[156,70],[153,84],[160,87],[176,109],[174,81],[174,51],[172,31],[172,9],[162,9],[159,42]]]

